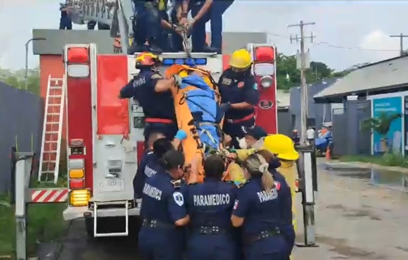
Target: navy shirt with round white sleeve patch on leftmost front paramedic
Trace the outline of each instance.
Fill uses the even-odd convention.
[[[146,180],[140,209],[143,219],[171,225],[187,216],[183,188],[175,188],[174,181],[165,171],[158,172]],[[180,180],[178,182],[180,183]]]

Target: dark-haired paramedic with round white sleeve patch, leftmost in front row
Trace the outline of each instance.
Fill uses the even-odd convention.
[[[148,178],[142,191],[140,254],[143,259],[180,260],[183,226],[189,222],[181,182],[184,155],[169,150],[159,161],[164,170]]]

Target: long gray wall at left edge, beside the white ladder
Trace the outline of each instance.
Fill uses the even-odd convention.
[[[43,103],[39,96],[0,82],[0,194],[10,189],[10,149],[41,150]]]

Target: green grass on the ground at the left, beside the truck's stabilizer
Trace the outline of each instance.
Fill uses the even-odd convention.
[[[55,188],[64,186],[36,184],[34,187]],[[8,203],[9,197],[0,195],[0,201]],[[35,253],[36,245],[39,242],[55,241],[64,235],[68,225],[68,222],[64,221],[62,217],[62,212],[65,208],[65,203],[37,203],[28,205],[27,251],[29,256]],[[13,205],[7,206],[4,203],[0,203],[0,230],[0,259],[15,259],[16,240]]]

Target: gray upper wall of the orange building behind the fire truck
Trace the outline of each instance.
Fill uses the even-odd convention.
[[[114,54],[113,39],[109,30],[50,30],[34,29],[33,38],[41,37],[46,40],[33,41],[34,54],[62,54],[65,44],[97,43],[99,54]],[[223,53],[245,47],[247,43],[266,43],[266,33],[224,32]]]

